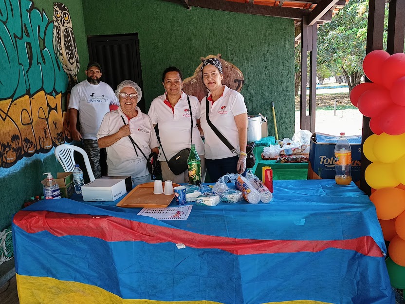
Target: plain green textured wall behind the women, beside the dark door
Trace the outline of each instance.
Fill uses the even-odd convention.
[[[269,135],[274,135],[274,101],[279,137],[293,136],[292,19],[187,10],[162,0],[83,0],[83,12],[88,36],[138,33],[147,109],[164,92],[161,75],[166,67],[177,66],[186,78],[193,75],[201,56],[220,53],[243,73],[240,93],[248,113],[267,116]]]

